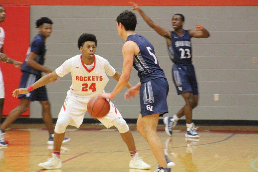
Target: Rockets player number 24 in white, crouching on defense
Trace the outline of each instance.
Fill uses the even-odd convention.
[[[67,97],[62,105],[54,132],[54,149],[52,158],[39,166],[44,169],[60,169],[60,150],[64,132],[68,125],[79,126],[83,122],[84,114],[87,111],[87,103],[90,98],[104,93],[104,88],[108,82],[108,77],[112,76],[119,81],[121,74],[117,72],[110,63],[101,56],[95,55],[97,39],[93,34],[82,34],[78,39],[78,48],[81,54],[66,60],[60,67],[52,73],[45,75],[28,88],[15,89],[13,96],[25,94],[33,89],[51,83],[57,77],[63,77],[71,72],[72,85],[67,91]],[[107,75],[106,75],[107,74]],[[126,85],[132,87],[130,83]],[[115,126],[121,134],[131,154],[130,168],[150,169],[137,153],[132,133],[122,118],[116,106],[110,101],[109,113],[101,118],[97,118],[105,127]]]

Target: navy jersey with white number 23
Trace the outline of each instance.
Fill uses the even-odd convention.
[[[188,30],[183,30],[183,36],[171,31],[172,45],[168,46],[169,57],[175,64],[192,64],[191,36]]]

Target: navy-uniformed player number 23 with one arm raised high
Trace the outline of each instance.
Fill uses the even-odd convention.
[[[210,36],[209,32],[201,24],[195,26],[196,30],[184,30],[185,18],[182,14],[173,15],[172,26],[174,31],[167,30],[155,24],[136,3],[130,3],[132,9],[139,12],[144,21],[166,39],[169,57],[174,63],[172,76],[177,94],[181,94],[185,100],[185,105],[177,114],[173,117],[164,118],[167,134],[171,136],[177,120],[185,115],[187,127],[185,137],[199,138],[200,136],[196,132],[197,127],[192,123],[192,110],[198,104],[198,85],[192,64],[191,38],[208,38]]]

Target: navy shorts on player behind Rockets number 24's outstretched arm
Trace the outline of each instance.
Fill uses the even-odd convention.
[[[34,75],[28,72],[23,72],[21,76],[21,83],[20,88],[27,88],[36,81],[38,81],[41,77],[38,75]],[[46,92],[46,87],[39,87],[37,89],[34,89],[33,91],[30,91],[27,94],[20,94],[18,96],[20,99],[27,99],[30,101],[46,101],[48,100],[48,95]]]

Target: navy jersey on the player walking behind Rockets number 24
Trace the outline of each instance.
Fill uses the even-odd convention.
[[[45,42],[42,39],[42,37],[40,36],[40,34],[38,34],[37,36],[35,36],[35,38],[33,39],[28,52],[27,52],[27,56],[26,59],[21,67],[21,71],[26,71],[28,73],[32,73],[34,75],[41,75],[41,71],[34,69],[32,67],[30,67],[26,62],[28,61],[28,57],[30,52],[34,52],[36,54],[38,54],[38,57],[35,59],[35,61],[41,65],[44,65],[44,61],[45,61],[45,53],[46,53],[46,47],[45,47]]]

